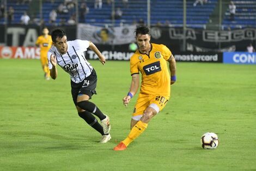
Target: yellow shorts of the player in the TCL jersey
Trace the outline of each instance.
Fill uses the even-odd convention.
[[[133,110],[132,119],[139,121],[147,107],[152,107],[159,113],[164,106],[166,106],[169,97],[167,96],[140,96],[137,99],[137,103]]]

